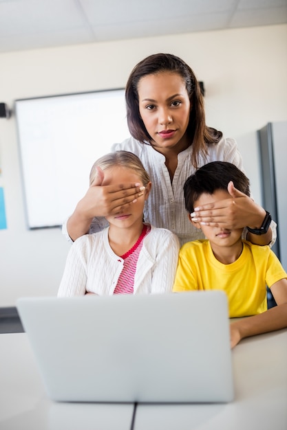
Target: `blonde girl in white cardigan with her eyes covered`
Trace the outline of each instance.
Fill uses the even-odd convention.
[[[97,174],[109,189],[118,183],[135,183],[137,199],[107,215],[104,229],[74,242],[58,296],[170,292],[178,263],[178,238],[142,221],[151,181],[140,159],[131,152],[112,152],[94,163],[90,183]]]

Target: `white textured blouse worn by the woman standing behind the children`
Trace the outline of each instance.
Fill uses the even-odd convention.
[[[154,150],[152,146],[140,144],[133,137],[129,137],[121,144],[114,144],[111,150],[127,150],[138,155],[149,173],[152,186],[149,199],[145,203],[144,216],[146,223],[172,231],[178,236],[180,246],[185,242],[204,238],[202,231],[193,227],[189,221],[187,210],[184,207],[183,185],[187,178],[195,173],[195,168],[191,164],[192,146],[178,154],[178,166],[172,182],[167,166],[164,164],[164,155]],[[222,137],[218,144],[209,145],[206,157],[202,154],[199,156],[198,168],[211,161],[228,161],[244,172],[242,157],[237,149],[235,139]],[[94,233],[104,227],[107,227],[105,218],[97,217],[92,221],[89,232]],[[271,227],[273,227],[273,240],[270,246],[276,240],[276,224],[274,221],[271,223]],[[243,238],[246,238],[246,232],[246,229],[244,229]],[[67,234],[66,221],[63,225],[63,234],[68,240],[70,239]]]

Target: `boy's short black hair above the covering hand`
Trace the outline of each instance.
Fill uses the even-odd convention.
[[[234,164],[227,161],[212,161],[198,169],[184,183],[184,203],[189,214],[194,210],[194,202],[201,194],[213,194],[217,190],[227,190],[230,181],[237,190],[250,196],[249,179]]]

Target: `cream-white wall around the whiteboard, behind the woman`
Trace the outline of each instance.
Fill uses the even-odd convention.
[[[274,25],[0,54],[0,102],[123,87],[145,56],[176,54],[204,81],[207,123],[237,139],[261,203],[256,131],[287,120],[286,41],[287,25]],[[25,227],[14,117],[0,119],[0,168],[8,223],[0,230],[0,306],[14,306],[23,295],[56,294],[70,245],[59,229]]]

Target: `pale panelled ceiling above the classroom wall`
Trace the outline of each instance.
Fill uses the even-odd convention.
[[[0,0],[0,52],[287,23],[287,0]]]

